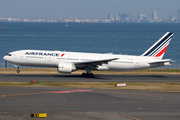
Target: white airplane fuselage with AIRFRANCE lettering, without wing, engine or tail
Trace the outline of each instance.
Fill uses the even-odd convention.
[[[155,62],[159,59],[147,56],[131,56],[120,54],[97,54],[97,53],[81,53],[81,52],[62,52],[62,51],[42,51],[42,50],[19,50],[4,56],[4,60],[22,66],[36,67],[56,67],[59,63],[81,63],[94,60],[111,59],[107,64],[103,64],[99,70],[115,70],[129,71],[137,69],[145,69],[151,67],[163,66],[164,64]],[[77,69],[81,69],[81,64],[76,64]]]

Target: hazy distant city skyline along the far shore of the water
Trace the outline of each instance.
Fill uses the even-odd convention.
[[[107,19],[54,19],[54,18],[36,18],[36,19],[20,19],[20,18],[2,18],[0,22],[65,22],[65,23],[180,23],[180,10],[177,11],[177,17],[169,15],[168,18],[159,19],[157,11],[152,11],[151,19],[146,18],[146,14],[128,15],[122,14],[108,14]]]

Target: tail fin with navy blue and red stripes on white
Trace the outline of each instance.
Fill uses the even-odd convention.
[[[167,32],[154,45],[152,45],[142,56],[157,57],[162,59],[174,33]]]

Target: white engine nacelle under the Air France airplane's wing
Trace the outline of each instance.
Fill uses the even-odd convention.
[[[76,67],[74,63],[59,63],[58,64],[58,72],[59,73],[71,73],[76,71]]]

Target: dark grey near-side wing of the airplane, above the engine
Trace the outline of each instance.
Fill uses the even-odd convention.
[[[89,61],[83,61],[83,62],[75,62],[75,65],[84,65],[84,66],[97,66],[102,64],[108,64],[108,62],[117,60],[119,58],[111,58],[111,59],[102,59],[102,60],[89,60]]]

